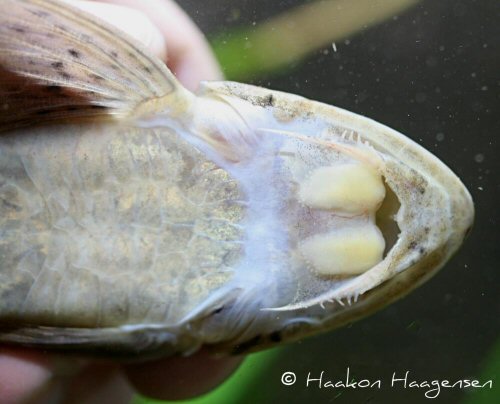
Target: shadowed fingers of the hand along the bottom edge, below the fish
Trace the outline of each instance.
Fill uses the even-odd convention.
[[[239,357],[206,352],[137,364],[90,361],[31,349],[0,348],[0,402],[127,403],[135,391],[180,400],[212,390],[238,367]]]

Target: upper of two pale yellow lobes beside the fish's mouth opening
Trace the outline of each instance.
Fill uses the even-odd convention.
[[[299,199],[310,208],[353,214],[375,211],[384,197],[382,177],[358,163],[320,167],[299,188]]]

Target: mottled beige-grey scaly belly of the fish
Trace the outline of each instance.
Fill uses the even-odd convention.
[[[166,130],[0,138],[0,318],[175,324],[231,277],[243,196]]]

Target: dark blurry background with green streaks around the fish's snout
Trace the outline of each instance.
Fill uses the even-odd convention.
[[[500,3],[498,0],[179,1],[211,40],[228,79],[297,93],[366,115],[449,165],[476,204],[463,248],[427,284],[329,334],[252,355],[197,402],[422,403],[410,379],[493,379],[443,389],[443,403],[498,403],[500,269]],[[333,42],[333,44],[332,44]],[[382,380],[382,389],[305,387]],[[281,375],[293,371],[286,387]],[[400,385],[399,385],[400,386]],[[139,402],[139,400],[137,400]]]

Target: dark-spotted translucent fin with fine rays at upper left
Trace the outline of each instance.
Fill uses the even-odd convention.
[[[0,0],[0,131],[120,118],[180,88],[134,39],[56,0]]]

